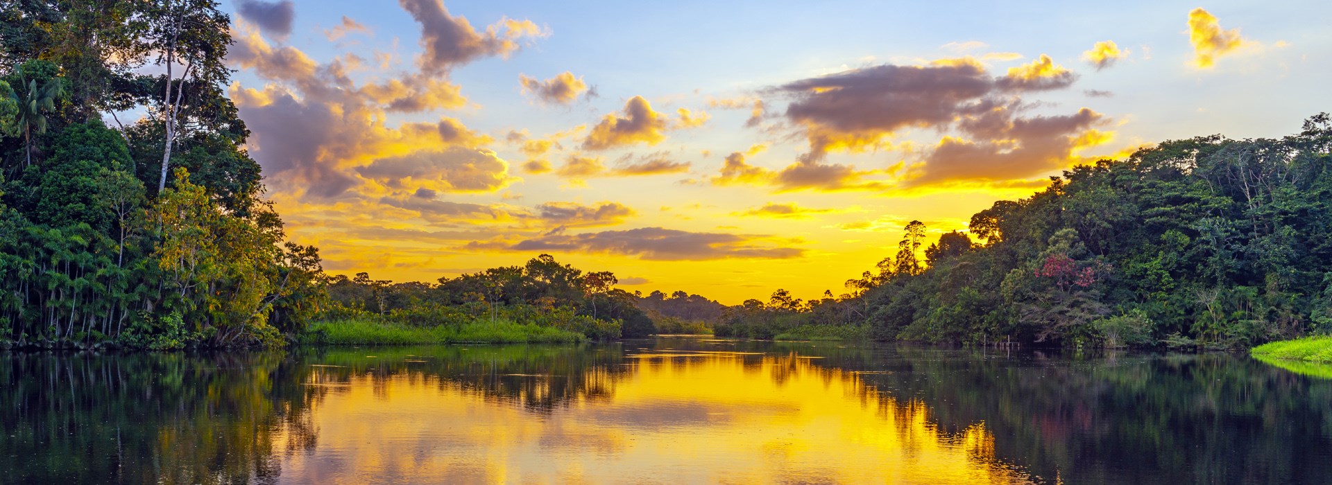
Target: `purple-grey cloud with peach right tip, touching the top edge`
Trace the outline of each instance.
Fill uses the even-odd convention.
[[[518,50],[518,40],[545,36],[530,20],[502,19],[477,32],[466,17],[454,17],[440,0],[398,0],[421,24],[421,53],[418,64],[426,74],[448,73],[453,66],[478,57],[507,56]]]

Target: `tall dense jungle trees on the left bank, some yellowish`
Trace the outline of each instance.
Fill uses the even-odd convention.
[[[0,344],[281,345],[300,331],[324,295],[320,258],[284,243],[262,198],[217,4],[3,1],[0,17]]]

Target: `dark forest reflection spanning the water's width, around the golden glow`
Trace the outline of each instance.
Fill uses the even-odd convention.
[[[613,400],[617,383],[645,365],[715,359],[766,372],[777,387],[809,372],[852,383],[859,396],[847,399],[876,405],[898,423],[927,420],[940,440],[971,440],[983,427],[992,441],[976,453],[1047,481],[1332,476],[1332,381],[1247,357],[1070,359],[689,339],[288,355],[3,355],[0,469],[19,482],[276,478],[278,454],[317,444],[312,409],[352,383],[378,389],[406,379],[550,415]]]

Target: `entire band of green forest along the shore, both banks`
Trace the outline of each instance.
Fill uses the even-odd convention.
[[[811,299],[629,292],[610,271],[549,254],[434,282],[329,275],[317,247],[288,239],[245,149],[228,98],[230,19],[210,1],[182,5],[116,3],[93,24],[63,3],[9,12],[0,347],[713,334],[1237,349],[1332,332],[1327,113],[1281,138],[1163,141],[1079,165],[964,230],[911,221],[896,251]],[[176,43],[182,33],[192,41]],[[180,58],[193,65],[174,77],[139,69]],[[147,116],[103,121],[127,112]]]

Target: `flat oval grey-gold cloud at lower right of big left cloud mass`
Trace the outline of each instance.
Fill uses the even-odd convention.
[[[496,191],[513,181],[509,163],[494,151],[462,146],[380,158],[356,171],[393,189]]]

